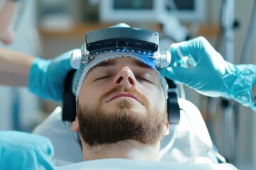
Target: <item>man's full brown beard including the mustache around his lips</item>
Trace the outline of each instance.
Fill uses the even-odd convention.
[[[103,111],[100,103],[117,92],[129,92],[138,96],[146,107],[146,113],[130,111],[132,103],[129,100],[119,102],[119,111],[108,113]],[[158,108],[149,109],[146,97],[134,89],[117,87],[100,97],[100,102],[92,105],[78,106],[78,121],[82,140],[90,146],[110,144],[122,140],[137,140],[142,144],[154,144],[163,137],[163,128],[166,120],[165,113],[160,113]]]

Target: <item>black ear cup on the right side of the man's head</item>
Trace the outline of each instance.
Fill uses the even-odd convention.
[[[178,124],[181,118],[180,107],[178,105],[177,85],[171,79],[166,79],[169,85],[167,99],[167,113],[170,124]]]

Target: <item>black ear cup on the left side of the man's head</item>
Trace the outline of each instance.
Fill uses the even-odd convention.
[[[75,69],[68,72],[64,82],[64,94],[63,94],[63,115],[62,120],[73,122],[76,116],[76,103],[75,95],[72,91],[72,81],[75,74]]]

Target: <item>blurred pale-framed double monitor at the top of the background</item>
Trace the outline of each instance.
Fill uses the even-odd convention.
[[[102,22],[159,21],[161,16],[176,16],[181,21],[203,21],[205,0],[101,0]]]

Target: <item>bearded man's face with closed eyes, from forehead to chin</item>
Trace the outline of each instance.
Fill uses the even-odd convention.
[[[89,70],[78,96],[78,122],[87,145],[137,140],[159,142],[166,125],[159,75],[132,57],[117,57]]]

